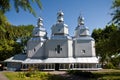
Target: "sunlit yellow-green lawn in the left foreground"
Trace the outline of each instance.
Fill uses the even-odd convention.
[[[3,72],[9,80],[66,80],[59,75],[45,72]]]

